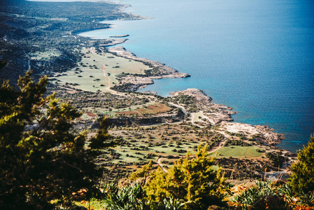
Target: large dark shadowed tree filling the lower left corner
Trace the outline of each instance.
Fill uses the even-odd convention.
[[[47,83],[28,71],[16,90],[8,81],[0,87],[0,209],[52,209],[71,204],[78,190],[92,193],[98,149],[115,144],[106,120],[87,144],[73,131],[80,113],[55,94],[43,97]]]

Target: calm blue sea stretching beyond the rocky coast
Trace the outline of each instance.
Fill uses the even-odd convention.
[[[151,20],[115,21],[85,36],[129,34],[138,57],[164,62],[191,78],[155,80],[143,91],[197,87],[231,106],[234,121],[285,134],[279,145],[302,148],[314,132],[314,1],[125,0]]]

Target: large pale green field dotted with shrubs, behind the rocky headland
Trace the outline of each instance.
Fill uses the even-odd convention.
[[[117,57],[111,53],[92,52],[92,50],[83,50],[85,55],[78,67],[55,75],[57,83],[61,85],[70,85],[80,90],[92,92],[108,92],[110,87],[117,84],[115,76],[124,73],[143,73],[149,66],[141,62]]]

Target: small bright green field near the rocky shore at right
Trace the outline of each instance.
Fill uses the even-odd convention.
[[[259,148],[257,146],[224,146],[217,150],[217,158],[258,158],[261,157],[264,153],[257,152]],[[213,153],[215,155],[216,153]]]

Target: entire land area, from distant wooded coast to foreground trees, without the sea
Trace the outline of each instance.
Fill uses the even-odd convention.
[[[201,90],[136,92],[188,75],[77,35],[123,7],[1,1],[0,209],[314,209],[313,137],[296,155]]]

